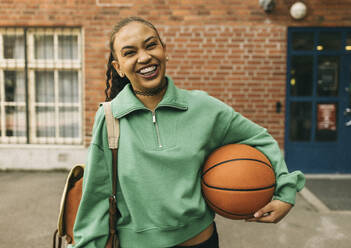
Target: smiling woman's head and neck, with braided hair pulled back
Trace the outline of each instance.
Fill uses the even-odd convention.
[[[114,28],[110,49],[107,100],[113,99],[125,84],[131,83],[134,93],[144,105],[154,109],[167,86],[166,46],[157,29],[144,19],[126,18]],[[108,95],[110,77],[112,87]]]

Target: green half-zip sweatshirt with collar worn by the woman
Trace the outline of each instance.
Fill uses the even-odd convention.
[[[226,144],[261,150],[276,174],[274,198],[294,204],[304,176],[288,173],[266,129],[208,94],[179,89],[167,79],[155,112],[135,97],[130,85],[112,100],[113,116],[120,120],[117,230],[122,248],[171,247],[204,230],[214,213],[201,194],[201,167],[214,149]],[[76,248],[105,247],[111,166],[104,110],[99,108],[74,226]]]

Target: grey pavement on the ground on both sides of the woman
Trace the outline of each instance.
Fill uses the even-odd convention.
[[[52,247],[66,175],[66,171],[0,172],[0,248]],[[319,180],[317,184],[315,179]],[[278,224],[247,223],[217,216],[220,247],[350,248],[351,211],[328,207],[317,191],[323,192],[320,190],[323,187],[330,189],[330,185],[348,187],[351,177],[339,184],[323,183],[322,179],[307,180],[311,183],[298,193],[295,207]],[[350,192],[350,187],[346,191]],[[331,195],[334,197],[331,201],[345,197]],[[337,206],[348,204],[339,200]]]

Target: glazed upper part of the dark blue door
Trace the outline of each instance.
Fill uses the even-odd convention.
[[[344,139],[338,115],[348,99],[344,63],[351,58],[351,32],[289,28],[288,39],[288,142],[339,142]]]

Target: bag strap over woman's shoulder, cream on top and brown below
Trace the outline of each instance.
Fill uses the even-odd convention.
[[[118,139],[119,139],[119,121],[114,118],[111,110],[111,102],[103,102],[107,127],[107,137],[109,148],[112,151],[112,194],[110,196],[109,202],[109,229],[110,237],[108,240],[108,245],[111,247],[118,247],[118,238],[116,232],[116,221],[117,215],[119,214],[117,210],[116,201],[116,189],[117,189],[117,149],[118,149]]]

